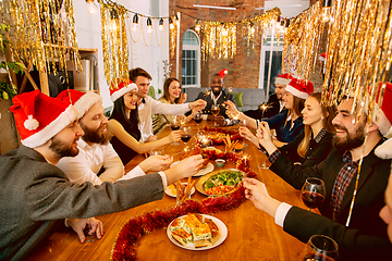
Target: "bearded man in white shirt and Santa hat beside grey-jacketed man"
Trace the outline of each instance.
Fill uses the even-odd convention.
[[[57,98],[68,103],[72,101],[79,112],[78,123],[84,132],[77,141],[79,153],[76,157],[64,157],[58,163],[58,167],[71,182],[100,185],[102,182],[124,181],[143,176],[147,172],[161,171],[172,163],[168,156],[151,156],[125,174],[120,157],[109,142],[112,135],[107,129],[108,119],[103,114],[102,98],[94,92],[72,89],[63,90]]]

